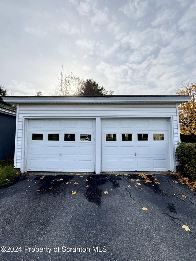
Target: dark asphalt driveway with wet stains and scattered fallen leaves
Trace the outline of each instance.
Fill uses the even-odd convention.
[[[0,188],[0,260],[195,260],[196,193],[174,181],[22,176]]]

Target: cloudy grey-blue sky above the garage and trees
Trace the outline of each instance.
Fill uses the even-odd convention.
[[[51,95],[63,64],[115,95],[196,78],[195,0],[0,0],[0,84]]]

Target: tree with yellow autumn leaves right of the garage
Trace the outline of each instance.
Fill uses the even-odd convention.
[[[187,103],[179,108],[180,133],[191,135],[196,140],[196,80],[188,80],[176,90],[177,95],[192,95]]]

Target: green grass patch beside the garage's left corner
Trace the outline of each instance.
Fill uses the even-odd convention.
[[[0,186],[8,184],[19,175],[20,170],[13,167],[13,158],[0,160]]]

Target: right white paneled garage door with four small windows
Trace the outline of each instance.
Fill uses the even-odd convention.
[[[102,120],[102,171],[169,169],[167,119]]]

